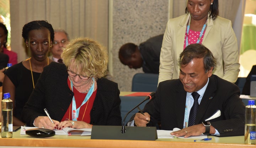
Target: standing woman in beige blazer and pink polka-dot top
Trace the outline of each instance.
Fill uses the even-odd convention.
[[[218,0],[187,0],[186,14],[166,25],[160,53],[158,83],[178,79],[178,57],[190,44],[203,44],[216,58],[213,74],[235,82],[239,67],[238,44],[231,21],[219,17]]]

